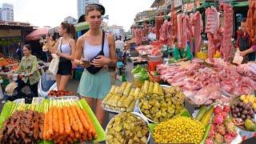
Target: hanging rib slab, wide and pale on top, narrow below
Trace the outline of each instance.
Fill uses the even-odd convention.
[[[210,62],[214,62],[214,54],[216,52],[214,46],[214,35],[217,35],[219,28],[218,11],[211,6],[206,9],[206,33],[208,38],[208,58]]]

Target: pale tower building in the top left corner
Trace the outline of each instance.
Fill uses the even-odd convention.
[[[3,3],[0,9],[0,20],[14,22],[14,6],[8,3]]]

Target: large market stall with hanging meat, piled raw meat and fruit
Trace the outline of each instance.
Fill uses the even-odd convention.
[[[233,46],[233,6],[242,3],[207,6],[205,27],[199,12],[188,15],[183,6],[181,14],[171,10],[170,21],[158,26],[159,38],[150,45],[141,45],[139,30],[134,31],[138,58],[146,58],[148,67],[134,66],[134,83],[112,86],[103,99],[103,109],[118,114],[106,129],[108,143],[146,143],[147,130],[126,133],[141,126],[123,119],[133,114],[148,123],[150,143],[240,143],[254,137],[256,63],[240,61]],[[167,58],[165,47],[171,51]]]

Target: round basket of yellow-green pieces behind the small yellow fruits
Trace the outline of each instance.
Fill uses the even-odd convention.
[[[142,93],[148,94],[140,99],[138,107],[142,114],[149,118],[151,122],[166,121],[184,109],[185,95],[182,93],[182,90],[179,90],[177,87],[168,87],[166,90],[163,90],[157,82],[149,87],[148,92],[146,92],[144,85]]]

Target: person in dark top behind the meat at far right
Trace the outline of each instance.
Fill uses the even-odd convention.
[[[245,61],[254,61],[255,53],[248,53],[251,51],[251,40],[248,32],[246,31],[246,18],[242,19],[241,29],[242,32],[238,33],[238,39],[235,46],[237,50],[242,52],[241,55],[244,56]]]

